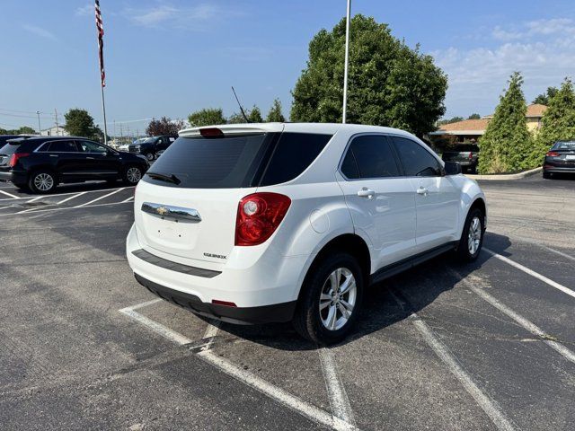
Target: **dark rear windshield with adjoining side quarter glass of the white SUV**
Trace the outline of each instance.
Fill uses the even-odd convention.
[[[304,172],[331,137],[305,133],[179,137],[152,165],[144,180],[189,189],[279,184]],[[176,180],[160,180],[154,174],[168,178],[174,175]]]

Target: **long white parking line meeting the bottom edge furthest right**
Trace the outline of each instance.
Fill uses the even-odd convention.
[[[407,304],[403,300],[394,295],[393,292],[390,291],[390,293],[394,297],[395,302],[398,303],[403,310],[408,310]],[[491,400],[491,398],[485,395],[479,386],[473,382],[471,376],[465,372],[463,367],[457,362],[456,357],[453,356],[451,352],[449,352],[449,349],[434,335],[433,330],[429,328],[427,323],[422,321],[420,316],[415,312],[411,312],[409,318],[415,328],[420,331],[420,334],[423,336],[423,339],[425,339],[425,342],[428,343],[429,347],[431,347],[439,359],[447,365],[451,374],[456,376],[459,383],[464,386],[465,391],[473,397],[477,404],[479,404],[479,407],[491,418],[495,427],[505,431],[516,430],[517,427],[505,416],[497,402]]]

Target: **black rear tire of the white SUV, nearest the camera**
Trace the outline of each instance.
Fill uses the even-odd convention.
[[[346,269],[355,279],[355,300],[347,321],[345,321],[345,316],[339,307],[348,310],[343,303],[351,303],[354,299],[351,296],[351,290],[353,289],[341,296],[337,293],[335,295],[326,294],[327,296],[332,296],[332,300],[326,301],[323,299],[323,303],[328,303],[328,305],[323,311],[320,311],[320,296],[323,292],[331,290],[332,281],[330,280],[330,275],[338,268]],[[346,276],[345,272],[342,271],[340,287],[343,287],[349,279],[349,276]],[[318,263],[314,263],[307,273],[302,286],[292,321],[294,328],[305,339],[322,345],[336,343],[344,339],[358,319],[364,286],[363,272],[359,267],[358,260],[348,253],[336,251],[335,254],[327,256]],[[336,301],[339,305],[336,304]],[[340,301],[342,302],[340,303]],[[335,330],[328,329],[323,323],[323,320],[330,321],[329,316],[332,308],[335,310],[335,324],[338,326],[342,325],[339,328],[336,327],[337,329]]]

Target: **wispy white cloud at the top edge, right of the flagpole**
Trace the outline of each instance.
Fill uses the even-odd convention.
[[[126,8],[122,14],[143,27],[160,27],[166,24],[173,28],[205,30],[211,22],[221,22],[222,19],[238,13],[229,7],[224,9],[213,3],[193,6],[160,3],[150,7]]]

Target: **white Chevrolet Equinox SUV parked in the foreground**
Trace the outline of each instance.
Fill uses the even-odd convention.
[[[477,258],[485,197],[460,172],[394,128],[182,130],[137,185],[129,265],[192,312],[334,342],[371,283],[445,251]]]

